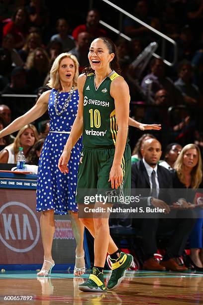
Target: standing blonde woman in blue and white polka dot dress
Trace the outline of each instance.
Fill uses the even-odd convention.
[[[78,67],[78,61],[74,55],[60,54],[55,59],[50,71],[48,86],[52,90],[44,92],[26,114],[14,120],[2,131],[5,134],[11,134],[40,118],[48,108],[50,130],[40,155],[36,207],[36,210],[41,212],[40,225],[44,248],[44,263],[37,275],[43,277],[48,276],[54,266],[51,254],[55,231],[54,214],[69,213],[77,245],[74,275],[80,276],[85,272],[84,225],[78,218],[78,207],[75,203],[82,139],[79,139],[72,151],[69,173],[63,175],[57,166],[77,115]]]

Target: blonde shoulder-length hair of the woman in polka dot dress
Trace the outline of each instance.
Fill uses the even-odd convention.
[[[59,56],[56,57],[56,59],[53,62],[53,65],[50,70],[50,80],[47,83],[47,86],[50,88],[55,88],[56,90],[61,90],[61,82],[59,78],[59,66],[64,58],[71,58],[75,65],[75,75],[73,78],[73,86],[77,87],[78,84],[78,76],[79,76],[79,62],[75,55],[72,55],[70,53],[61,53]]]

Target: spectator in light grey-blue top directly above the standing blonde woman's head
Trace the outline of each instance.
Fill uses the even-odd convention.
[[[75,42],[73,36],[68,34],[69,24],[64,18],[57,20],[56,25],[58,34],[51,37],[51,41],[57,40],[62,44],[63,52],[68,52],[75,47]]]

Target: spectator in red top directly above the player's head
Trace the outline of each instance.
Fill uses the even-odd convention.
[[[106,36],[106,31],[100,26],[100,13],[96,8],[88,11],[86,17],[86,24],[80,24],[74,28],[72,36],[75,40],[78,38],[78,34],[81,32],[88,32],[92,39],[100,36]]]

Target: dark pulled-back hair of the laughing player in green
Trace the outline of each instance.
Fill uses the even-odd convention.
[[[116,48],[116,45],[114,44],[114,42],[108,37],[98,37],[97,39],[102,39],[103,43],[108,48],[109,54],[111,54],[111,53],[114,54],[113,60],[110,62],[110,68],[112,70],[114,70],[116,73],[121,74],[120,65],[118,62],[117,48]],[[95,74],[95,70],[93,70],[93,68],[90,65],[83,70],[83,73],[85,73],[87,76],[89,73]]]

